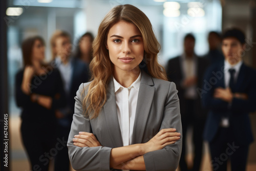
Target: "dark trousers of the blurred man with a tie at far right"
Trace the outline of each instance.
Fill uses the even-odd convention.
[[[220,127],[216,137],[209,143],[209,146],[213,170],[226,171],[229,159],[232,171],[246,170],[249,145],[236,143],[230,128]]]

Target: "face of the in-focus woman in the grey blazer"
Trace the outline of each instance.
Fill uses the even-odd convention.
[[[134,24],[121,21],[112,26],[106,44],[115,72],[133,71],[139,67],[144,45],[142,35]]]

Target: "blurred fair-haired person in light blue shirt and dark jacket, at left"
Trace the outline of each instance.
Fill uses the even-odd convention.
[[[56,31],[51,38],[51,46],[52,54],[55,55],[53,56],[53,63],[60,71],[67,102],[65,108],[56,111],[58,118],[57,136],[60,139],[64,138],[67,142],[74,114],[74,97],[80,84],[88,82],[89,69],[86,63],[72,57],[72,44],[69,33],[60,30]],[[56,171],[68,171],[69,164],[68,148],[65,145],[56,155],[54,167]]]

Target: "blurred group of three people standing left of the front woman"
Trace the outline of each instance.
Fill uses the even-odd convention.
[[[22,140],[32,170],[69,170],[67,141],[74,114],[76,91],[90,79],[91,33],[83,34],[72,53],[71,37],[56,31],[51,38],[52,61],[45,62],[40,36],[23,41],[24,68],[16,74],[16,103],[22,107]]]

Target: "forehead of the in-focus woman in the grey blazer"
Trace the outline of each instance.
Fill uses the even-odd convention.
[[[125,36],[125,35],[135,35],[139,34],[141,35],[139,29],[137,26],[135,26],[133,23],[128,23],[124,21],[120,21],[116,24],[114,24],[108,33],[109,36],[112,36],[113,34],[119,35],[119,36]]]

